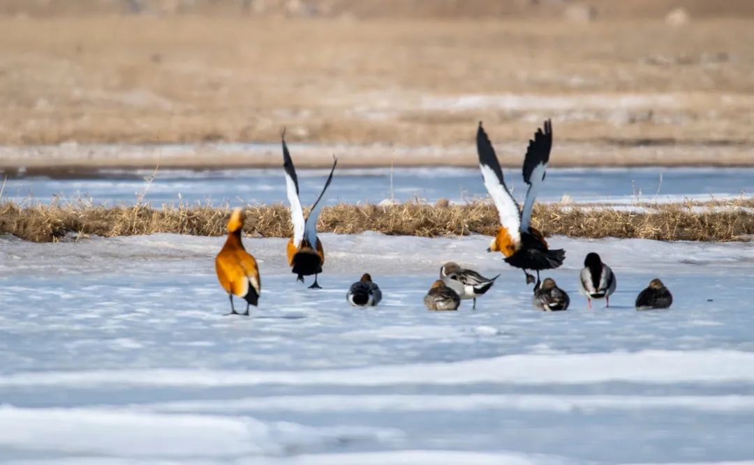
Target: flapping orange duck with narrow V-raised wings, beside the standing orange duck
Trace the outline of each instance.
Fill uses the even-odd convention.
[[[317,275],[322,272],[325,252],[322,242],[317,238],[317,217],[322,210],[320,200],[330,181],[333,181],[333,172],[337,164],[338,159],[335,158],[333,169],[330,170],[322,193],[317,197],[317,202],[311,206],[308,217],[304,219],[304,211],[299,199],[299,179],[296,178],[296,168],[293,167],[293,160],[290,158],[288,146],[285,143],[285,132],[283,132],[283,168],[288,202],[290,202],[290,221],[293,223],[293,237],[288,241],[287,247],[288,264],[291,266],[291,271],[297,275],[298,281],[304,282],[304,276],[314,275],[314,284],[311,284],[309,289],[321,289],[317,284]]]

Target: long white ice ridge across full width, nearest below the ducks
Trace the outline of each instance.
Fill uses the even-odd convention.
[[[473,383],[590,384],[611,381],[647,384],[754,383],[754,353],[713,349],[597,354],[518,354],[452,363],[415,363],[295,372],[214,369],[18,372],[0,376],[0,387],[92,388],[116,384],[172,387],[259,384],[387,386]]]

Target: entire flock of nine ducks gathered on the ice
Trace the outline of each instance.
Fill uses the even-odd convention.
[[[290,202],[291,223],[293,223],[293,236],[287,244],[288,264],[298,281],[303,282],[305,276],[314,275],[314,283],[309,288],[320,288],[317,284],[317,276],[322,272],[325,254],[322,242],[317,238],[317,217],[322,208],[320,201],[330,182],[333,181],[333,172],[335,172],[338,159],[334,157],[333,168],[329,172],[322,192],[309,210],[308,216],[304,217],[299,199],[299,180],[285,141],[285,132],[282,145],[287,197]],[[535,283],[533,305],[544,311],[566,310],[570,303],[568,293],[560,289],[552,278],[545,278],[541,281],[539,275],[542,270],[556,269],[561,266],[566,252],[562,249],[548,248],[542,233],[531,226],[534,200],[544,181],[552,145],[552,123],[547,120],[544,122],[544,129],[537,129],[526,149],[523,180],[529,187],[526,190],[523,208],[520,208],[503,180],[498,157],[482,123],[477,129],[477,153],[482,178],[500,217],[500,226],[487,251],[501,252],[510,266],[523,270],[526,275],[526,284]],[[262,292],[259,267],[254,257],[244,249],[241,243],[241,229],[245,218],[242,208],[234,209],[228,220],[228,239],[215,260],[217,278],[222,288],[228,293],[231,303],[231,313],[228,315],[238,314],[233,304],[233,296],[241,297],[247,302],[246,311],[238,315],[249,315],[250,305],[257,305],[259,294]],[[526,270],[536,273],[536,281],[534,276]],[[472,269],[461,268],[457,263],[445,263],[440,267],[440,279],[434,281],[425,296],[425,305],[430,310],[457,310],[461,300],[473,299],[473,308],[476,308],[477,298],[483,296],[492,287],[498,276],[485,278]],[[615,292],[617,281],[610,267],[602,263],[598,254],[591,252],[584,259],[584,269],[579,275],[579,284],[581,293],[587,298],[589,308],[592,308],[593,299],[605,299],[606,305],[610,305],[610,296]],[[369,273],[365,273],[359,281],[351,285],[346,299],[354,306],[377,305],[382,299],[382,291],[377,284],[372,282]],[[668,308],[672,302],[673,296],[667,287],[659,279],[653,279],[649,286],[639,293],[635,303],[637,309],[646,310]]]

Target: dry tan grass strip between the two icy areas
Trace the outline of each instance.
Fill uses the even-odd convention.
[[[700,208],[692,204],[652,205],[645,211],[617,211],[581,205],[538,205],[533,226],[547,236],[639,238],[689,241],[742,241],[754,235],[752,200],[720,202]],[[69,233],[79,236],[131,236],[173,232],[222,236],[228,208],[179,206],[152,208],[90,205],[20,206],[0,203],[0,234],[34,242],[55,242]],[[394,236],[492,235],[498,225],[495,207],[486,202],[465,205],[335,205],[323,209],[320,232],[357,234],[377,231]],[[292,226],[284,205],[248,206],[244,230],[256,237],[288,237]]]

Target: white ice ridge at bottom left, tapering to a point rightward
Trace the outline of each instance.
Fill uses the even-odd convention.
[[[280,455],[290,450],[316,451],[331,443],[379,445],[400,439],[399,430],[388,428],[315,428],[248,417],[165,415],[106,408],[0,407],[0,448],[67,454],[233,458]]]

